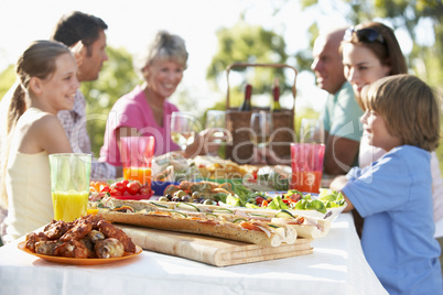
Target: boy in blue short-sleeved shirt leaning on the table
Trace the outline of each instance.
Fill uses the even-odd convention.
[[[369,142],[388,153],[333,181],[346,211],[365,218],[361,248],[389,294],[443,294],[440,245],[433,238],[430,152],[440,138],[440,106],[411,75],[371,84],[361,94]]]

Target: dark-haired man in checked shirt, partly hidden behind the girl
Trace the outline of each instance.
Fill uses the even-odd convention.
[[[52,40],[66,44],[77,62],[77,78],[82,81],[96,80],[106,54],[108,25],[99,18],[79,11],[63,15],[55,25]],[[86,130],[86,100],[80,91],[75,97],[74,108],[58,112],[74,152],[90,153],[90,141]],[[117,176],[116,167],[93,160],[91,178],[109,179]]]

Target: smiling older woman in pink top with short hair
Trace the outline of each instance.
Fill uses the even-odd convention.
[[[170,136],[171,113],[179,109],[166,99],[182,81],[187,56],[182,37],[164,31],[156,34],[141,61],[143,85],[117,100],[109,113],[102,161],[121,166],[120,136],[153,135],[155,155],[180,150]]]

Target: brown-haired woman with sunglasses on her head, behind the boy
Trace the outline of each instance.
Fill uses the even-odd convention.
[[[407,74],[408,68],[396,35],[389,26],[368,22],[349,28],[342,42],[345,77],[353,85],[357,102],[363,107],[361,89],[390,75]],[[400,108],[401,106],[399,106]],[[365,131],[360,141],[359,166],[380,159],[386,151],[368,144]],[[435,238],[443,237],[443,182],[435,152],[431,153]]]

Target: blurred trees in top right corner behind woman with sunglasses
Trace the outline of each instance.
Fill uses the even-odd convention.
[[[306,9],[320,6],[320,2],[318,0],[303,0],[302,6]],[[440,56],[443,52],[443,28],[441,25],[443,21],[442,1],[342,0],[342,2],[348,3],[350,7],[347,19],[352,23],[357,24],[381,18],[389,21],[395,30],[402,29],[408,32],[413,42],[411,53],[406,54],[409,68],[418,77],[426,81],[426,84],[440,92],[442,91],[443,59]],[[434,33],[435,40],[433,44],[421,41],[423,30],[420,29],[424,25],[429,26],[428,30]],[[436,154],[440,160],[440,167],[443,171],[443,140],[441,140]]]

